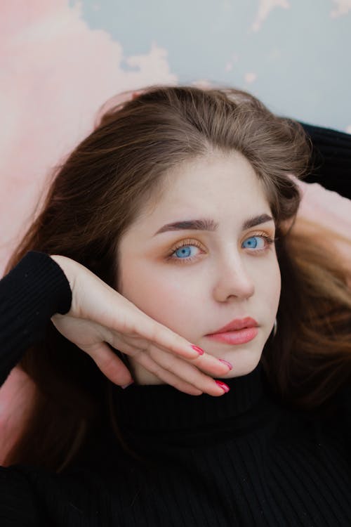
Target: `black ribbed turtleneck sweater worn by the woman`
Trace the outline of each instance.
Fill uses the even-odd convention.
[[[29,252],[0,281],[1,382],[71,301],[44,253]],[[116,386],[132,453],[107,427],[61,474],[0,468],[1,527],[350,527],[349,391],[326,417],[286,408],[260,363],[226,382],[218,398]]]

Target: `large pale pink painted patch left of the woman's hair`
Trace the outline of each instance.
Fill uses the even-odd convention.
[[[122,69],[122,61],[133,71]],[[114,94],[172,84],[166,51],[125,57],[67,0],[4,0],[0,18],[0,276],[52,167]]]

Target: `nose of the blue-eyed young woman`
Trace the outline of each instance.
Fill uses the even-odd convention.
[[[239,254],[226,254],[217,261],[216,283],[213,296],[224,302],[230,297],[249,299],[255,292],[253,278]]]

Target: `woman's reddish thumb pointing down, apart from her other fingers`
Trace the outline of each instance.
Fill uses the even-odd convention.
[[[131,372],[105,342],[79,346],[93,359],[99,370],[114,384],[124,386],[133,382]]]

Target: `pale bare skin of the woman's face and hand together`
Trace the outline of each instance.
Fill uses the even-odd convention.
[[[272,213],[251,164],[237,152],[185,162],[166,174],[165,185],[119,242],[119,292],[79,263],[51,256],[72,289],[69,313],[52,320],[116,384],[128,384],[131,375],[106,343],[126,353],[139,384],[220,396],[225,391],[212,377],[251,372],[274,325],[281,282],[274,243],[265,238],[274,238]],[[264,215],[243,230],[245,221]],[[156,234],[167,223],[194,219],[217,228]],[[258,323],[253,340],[230,345],[206,337],[246,316]]]

